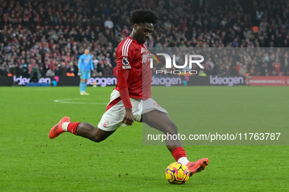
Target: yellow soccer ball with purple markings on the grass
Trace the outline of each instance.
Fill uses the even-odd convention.
[[[171,184],[184,184],[188,181],[189,176],[188,167],[182,163],[171,163],[166,169],[166,178]]]

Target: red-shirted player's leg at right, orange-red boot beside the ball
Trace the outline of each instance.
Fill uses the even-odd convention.
[[[178,134],[178,128],[175,123],[171,120],[167,113],[152,110],[142,115],[142,121],[148,124],[150,127],[153,127],[164,134]],[[180,140],[166,139],[166,145],[168,150],[172,153],[173,157],[177,162],[185,164],[189,171],[190,175],[201,172],[209,163],[208,158],[199,159],[196,162],[190,162],[187,159],[184,148],[181,145]]]

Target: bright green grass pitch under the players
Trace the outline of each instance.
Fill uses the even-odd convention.
[[[101,143],[70,133],[49,139],[64,115],[96,126],[112,89],[88,87],[80,96],[78,87],[0,87],[0,191],[289,191],[288,145],[185,145],[189,160],[208,157],[209,165],[185,185],[170,185],[165,169],[175,160],[165,146],[142,145],[141,123]],[[289,128],[288,87],[153,87],[171,100],[180,89],[179,102],[196,111],[192,130]],[[177,126],[187,126],[181,108],[158,95]]]

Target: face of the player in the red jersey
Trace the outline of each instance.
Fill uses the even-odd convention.
[[[135,40],[137,40],[140,44],[145,43],[148,38],[152,35],[154,31],[154,24],[153,23],[140,23],[135,24]]]

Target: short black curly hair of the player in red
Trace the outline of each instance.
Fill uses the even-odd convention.
[[[139,24],[139,23],[145,23],[145,22],[156,24],[157,19],[158,17],[155,11],[152,11],[150,9],[137,9],[132,12],[130,20],[133,22],[133,24],[134,23]]]

